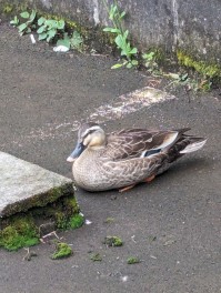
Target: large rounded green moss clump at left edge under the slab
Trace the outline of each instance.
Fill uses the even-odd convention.
[[[9,251],[39,243],[39,232],[32,216],[16,215],[0,231],[0,246]]]

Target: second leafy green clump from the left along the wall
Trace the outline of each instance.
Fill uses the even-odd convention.
[[[41,17],[38,19],[39,29],[37,33],[39,34],[39,40],[47,40],[50,42],[59,32],[64,31],[64,20],[46,19]]]

